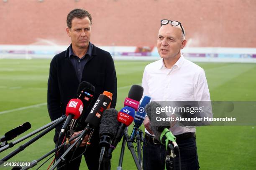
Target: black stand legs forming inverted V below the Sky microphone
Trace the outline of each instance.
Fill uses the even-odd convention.
[[[118,165],[117,169],[122,170],[123,154],[124,154],[125,141],[126,141],[127,142],[127,147],[131,151],[131,154],[132,154],[132,157],[133,157],[133,160],[136,164],[137,169],[141,170],[141,165],[139,164],[138,159],[136,157],[136,153],[134,151],[132,140],[131,140],[131,138],[128,135],[126,130],[128,130],[128,127],[127,127],[127,129],[125,128],[125,130],[123,131],[123,133],[124,133],[123,134],[123,143],[122,143],[122,148],[121,148],[121,153],[120,153],[119,165]]]

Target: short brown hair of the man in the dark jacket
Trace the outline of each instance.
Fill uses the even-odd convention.
[[[83,19],[85,17],[88,17],[90,20],[90,23],[92,25],[92,15],[84,9],[74,9],[72,11],[69,12],[69,14],[67,15],[67,27],[71,28],[72,27],[72,20],[74,18],[80,18]]]

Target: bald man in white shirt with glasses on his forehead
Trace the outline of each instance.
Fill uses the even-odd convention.
[[[152,101],[210,101],[210,93],[204,70],[185,59],[181,49],[185,47],[185,31],[178,21],[161,20],[157,49],[161,60],[145,67],[142,79],[143,95]],[[148,117],[143,122],[143,169],[164,170],[165,146],[156,140],[150,129]],[[199,162],[195,141],[195,127],[174,125],[170,128],[180,148],[182,170],[198,170]],[[179,169],[179,158],[175,158]]]

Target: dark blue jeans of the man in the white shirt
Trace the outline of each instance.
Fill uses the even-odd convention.
[[[179,143],[181,169],[198,170],[200,168],[197,157],[197,145],[195,138],[182,140]],[[174,158],[175,168],[179,170],[179,154]],[[166,150],[161,144],[151,144],[145,138],[143,140],[143,169],[144,170],[164,170]],[[173,158],[171,158],[173,159]]]

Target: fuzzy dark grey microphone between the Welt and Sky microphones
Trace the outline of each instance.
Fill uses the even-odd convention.
[[[120,123],[117,120],[118,111],[114,108],[110,108],[104,111],[100,121],[100,160],[99,164],[102,163],[103,155],[105,153],[105,148],[110,147],[110,143],[116,136],[118,126]],[[99,165],[100,166],[100,165]]]

